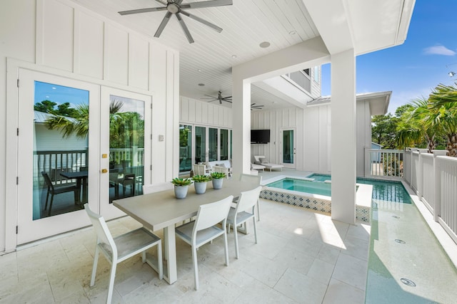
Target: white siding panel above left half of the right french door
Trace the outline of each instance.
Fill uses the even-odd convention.
[[[104,79],[114,83],[128,84],[129,33],[105,23]]]

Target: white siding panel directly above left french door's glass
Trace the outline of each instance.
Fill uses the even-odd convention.
[[[38,35],[42,64],[73,71],[74,9],[58,1],[43,1],[42,24]],[[38,43],[37,43],[38,44]]]

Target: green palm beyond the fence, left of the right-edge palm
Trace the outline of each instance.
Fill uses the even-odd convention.
[[[419,98],[413,100],[408,110],[403,112],[397,123],[397,142],[403,147],[414,146],[425,138],[428,152],[436,148],[438,125],[431,123],[428,100]]]

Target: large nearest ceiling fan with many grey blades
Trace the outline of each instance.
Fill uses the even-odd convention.
[[[215,24],[206,21],[204,19],[201,19],[199,16],[195,16],[193,14],[188,13],[187,11],[184,11],[184,9],[202,9],[205,7],[213,7],[213,6],[226,6],[226,5],[232,5],[233,0],[211,0],[211,1],[201,1],[201,2],[194,2],[194,3],[186,3],[186,4],[181,4],[183,0],[156,0],[160,4],[163,4],[163,7],[150,7],[147,9],[133,9],[131,11],[119,11],[119,14],[122,16],[124,15],[131,15],[131,14],[140,14],[140,13],[149,13],[151,11],[167,11],[164,19],[162,19],[162,22],[159,25],[159,28],[157,28],[156,33],[154,34],[154,37],[159,38],[162,31],[164,31],[164,28],[167,23],[169,23],[171,15],[175,14],[176,19],[178,19],[179,24],[181,25],[181,28],[184,31],[184,35],[186,35],[187,40],[189,43],[194,43],[194,38],[192,38],[191,33],[189,32],[189,28],[187,28],[186,23],[184,23],[184,20],[181,18],[181,14],[184,16],[188,16],[191,19],[194,19],[195,21],[199,21],[200,23],[204,23],[204,25],[209,26],[210,28],[213,28],[214,31],[217,31],[218,33],[221,33],[222,28],[219,26],[216,26]]]

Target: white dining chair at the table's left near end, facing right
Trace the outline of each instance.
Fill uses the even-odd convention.
[[[99,262],[99,251],[101,251],[109,263],[111,263],[106,303],[111,303],[111,298],[113,296],[117,264],[138,253],[142,253],[142,261],[143,263],[146,263],[146,250],[153,246],[157,246],[157,266],[154,266],[153,268],[159,273],[159,280],[164,278],[162,267],[162,243],[159,236],[156,236],[144,228],[139,228],[113,238],[103,216],[91,211],[91,209],[89,209],[89,204],[84,204],[84,209],[86,209],[86,213],[89,216],[89,219],[91,219],[97,236],[91,286],[94,286],[95,283],[97,263]]]

